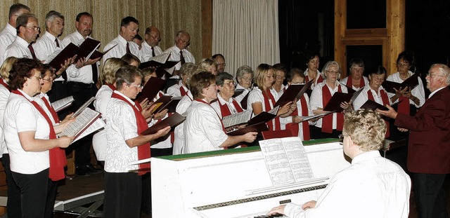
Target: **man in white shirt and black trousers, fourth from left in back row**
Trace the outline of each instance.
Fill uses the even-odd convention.
[[[74,43],[80,46],[86,38],[91,38],[89,35],[92,32],[92,25],[94,19],[92,15],[87,12],[82,12],[75,18],[75,28],[77,29],[72,34],[63,39],[63,43],[68,45]],[[92,39],[92,38],[91,38]],[[86,60],[84,57],[78,60],[77,63],[70,65],[67,69],[68,74],[68,93],[72,95],[75,101],[72,103],[72,109],[78,109],[89,98],[96,96],[97,82],[98,82],[98,60]],[[71,148],[75,149],[75,172],[77,175],[89,175],[101,172],[91,165],[91,148],[92,135],[79,139]]]

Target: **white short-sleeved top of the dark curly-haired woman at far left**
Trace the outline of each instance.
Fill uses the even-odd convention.
[[[22,92],[21,90],[19,90]],[[23,92],[22,92],[23,93]],[[31,104],[32,97],[11,93],[4,114],[4,136],[11,158],[11,171],[36,174],[50,167],[49,151],[25,151],[18,132],[34,131],[35,139],[49,139],[49,123]]]

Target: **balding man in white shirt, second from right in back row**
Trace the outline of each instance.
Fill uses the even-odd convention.
[[[150,57],[155,57],[162,54],[162,50],[158,44],[161,41],[160,30],[156,27],[147,27],[144,35],[145,41],[142,42],[142,59],[146,62]]]

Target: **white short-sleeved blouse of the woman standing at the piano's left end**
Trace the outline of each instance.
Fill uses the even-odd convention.
[[[114,93],[122,95],[131,105],[135,105],[122,93],[117,91],[114,91]],[[138,147],[130,148],[125,142],[127,139],[139,136],[133,109],[127,102],[112,97],[106,107],[106,121],[105,130],[108,147],[106,148],[105,171],[129,172],[129,170],[138,170],[139,165],[129,165],[133,161],[138,161]]]

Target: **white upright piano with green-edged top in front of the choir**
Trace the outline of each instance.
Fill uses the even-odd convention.
[[[257,217],[284,203],[316,200],[350,159],[337,139],[303,142],[314,179],[274,186],[259,147],[151,158],[155,218]]]

